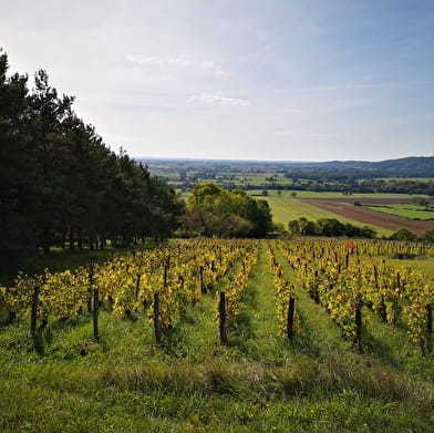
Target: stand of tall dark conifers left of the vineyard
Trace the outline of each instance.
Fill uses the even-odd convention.
[[[122,148],[113,152],[40,70],[8,75],[0,49],[0,255],[166,237],[184,204]]]

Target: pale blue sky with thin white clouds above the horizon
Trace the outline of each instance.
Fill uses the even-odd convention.
[[[14,0],[0,47],[133,157],[434,156],[432,0]]]

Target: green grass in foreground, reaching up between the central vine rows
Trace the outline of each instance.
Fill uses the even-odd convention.
[[[434,361],[404,329],[368,317],[366,353],[355,354],[298,289],[301,333],[290,346],[273,290],[262,241],[227,346],[215,293],[179,317],[159,347],[144,311],[130,319],[102,311],[99,344],[91,317],[70,319],[50,326],[41,357],[21,318],[0,330],[0,431],[433,432]]]

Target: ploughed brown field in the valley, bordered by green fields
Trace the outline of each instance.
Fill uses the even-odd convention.
[[[354,206],[354,200],[363,204],[394,204],[394,203],[406,203],[403,199],[354,199],[354,198],[339,198],[339,200],[331,200],[324,198],[302,198],[304,202],[312,206],[317,206],[320,209],[331,212],[333,214],[340,215],[345,218],[354,219],[356,221],[374,225],[383,228],[389,228],[391,230],[399,230],[400,228],[406,228],[410,231],[421,234],[428,228],[434,228],[434,221],[432,220],[413,220],[407,218],[402,218],[395,215],[388,215],[381,212],[375,212],[368,209],[362,206]],[[350,204],[351,202],[351,204]],[[411,203],[410,200],[407,203]]]

